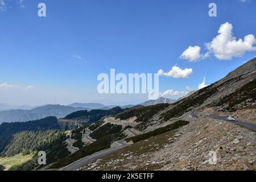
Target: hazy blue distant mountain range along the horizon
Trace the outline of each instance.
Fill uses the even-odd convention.
[[[169,98],[158,98],[158,100],[150,100],[142,102],[142,106],[150,106],[155,104],[174,103],[176,100]],[[25,122],[36,119],[42,119],[49,116],[56,118],[64,118],[68,114],[71,114],[79,110],[109,110],[114,107],[121,107],[122,109],[131,108],[136,105],[103,105],[97,103],[73,103],[68,106],[63,105],[42,105],[42,106],[10,106],[6,104],[0,104],[0,123],[2,122]],[[23,109],[22,109],[23,108]]]

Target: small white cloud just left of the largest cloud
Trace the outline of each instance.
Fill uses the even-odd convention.
[[[200,59],[205,59],[209,56],[209,53],[201,54],[201,47],[199,46],[189,46],[185,51],[181,54],[181,59],[187,59],[189,61],[197,61]]]

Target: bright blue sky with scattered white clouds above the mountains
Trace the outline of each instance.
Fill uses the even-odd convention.
[[[38,16],[40,2],[46,3],[46,17]],[[217,17],[208,15],[210,2]],[[145,94],[98,94],[97,76],[111,68],[126,74],[162,69],[160,92],[180,97],[186,87],[209,85],[256,56],[255,10],[254,0],[0,0],[0,102],[147,100]],[[233,36],[225,37],[231,27]],[[174,66],[185,78],[168,73]]]

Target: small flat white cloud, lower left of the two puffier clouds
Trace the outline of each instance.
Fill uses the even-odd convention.
[[[162,69],[159,69],[159,76],[174,77],[174,78],[188,78],[193,73],[192,68],[181,69],[177,66],[172,67],[168,73],[164,73]]]

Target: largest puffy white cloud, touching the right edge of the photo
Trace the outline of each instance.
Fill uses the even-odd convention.
[[[246,35],[245,38],[236,40],[233,36],[233,26],[226,22],[220,26],[218,35],[207,43],[208,50],[219,60],[231,60],[233,57],[241,57],[246,51],[256,51],[254,35]]]

